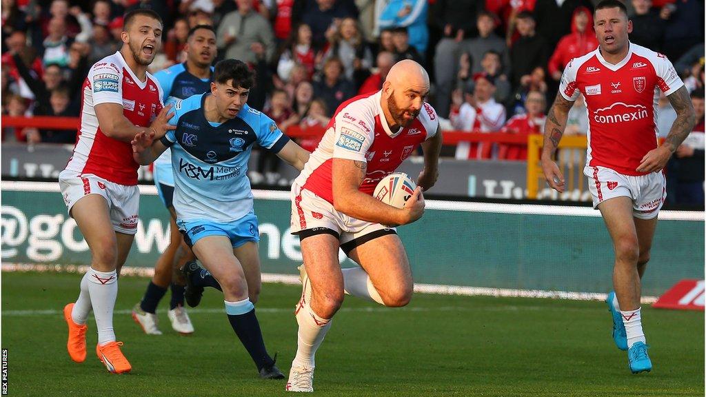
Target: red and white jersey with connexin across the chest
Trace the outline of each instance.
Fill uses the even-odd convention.
[[[589,116],[586,164],[606,167],[626,175],[657,148],[659,92],[670,95],[684,83],[669,59],[630,43],[628,55],[609,64],[595,49],[569,62],[559,91],[574,101],[586,98]]]

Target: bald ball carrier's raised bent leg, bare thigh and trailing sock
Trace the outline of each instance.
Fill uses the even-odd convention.
[[[350,295],[387,307],[402,307],[412,299],[414,281],[400,237],[378,237],[355,247],[349,256],[362,266],[343,269],[346,292]]]

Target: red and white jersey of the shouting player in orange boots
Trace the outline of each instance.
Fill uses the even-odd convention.
[[[80,129],[66,170],[98,177],[122,185],[137,184],[138,163],[133,160],[129,142],[105,135],[98,125],[95,105],[116,103],[136,126],[149,126],[162,110],[162,88],[147,73],[140,81],[120,52],[98,61],[83,82]]]

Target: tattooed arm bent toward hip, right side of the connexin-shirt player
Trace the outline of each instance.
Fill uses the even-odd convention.
[[[674,150],[681,145],[684,138],[694,129],[696,117],[686,87],[682,86],[667,98],[676,111],[676,120],[674,120],[674,124],[671,124],[669,135],[664,138],[664,143],[658,148],[647,152],[645,157],[642,158],[640,165],[635,170],[637,172],[649,173],[662,170]]]

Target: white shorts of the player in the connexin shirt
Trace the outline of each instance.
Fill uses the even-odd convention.
[[[646,175],[625,175],[606,167],[583,169],[588,177],[588,189],[593,196],[593,208],[609,198],[626,196],[633,200],[633,216],[652,219],[657,216],[666,198],[664,172]]]

